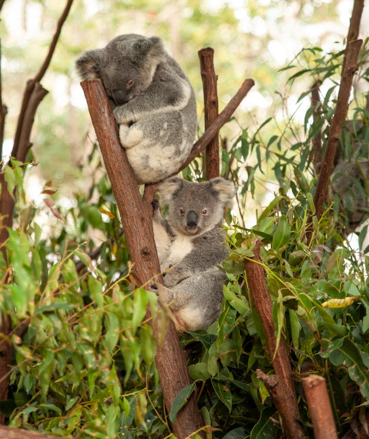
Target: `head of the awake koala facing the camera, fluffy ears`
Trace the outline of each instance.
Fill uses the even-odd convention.
[[[166,219],[172,230],[197,236],[223,220],[224,207],[232,204],[234,186],[220,177],[202,183],[171,177],[161,183],[158,192],[161,205],[168,206]]]

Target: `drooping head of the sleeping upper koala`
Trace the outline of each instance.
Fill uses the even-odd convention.
[[[145,91],[157,65],[167,54],[160,38],[127,34],[114,38],[103,49],[84,52],[76,61],[82,79],[101,79],[116,105],[123,105]]]

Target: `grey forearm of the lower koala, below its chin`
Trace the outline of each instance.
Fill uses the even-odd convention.
[[[224,232],[218,227],[196,237],[192,250],[166,273],[165,286],[173,287],[194,274],[220,265],[229,253],[224,241]]]

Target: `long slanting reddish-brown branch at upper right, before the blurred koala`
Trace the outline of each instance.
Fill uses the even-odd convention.
[[[335,114],[332,119],[331,128],[328,134],[327,146],[325,149],[322,166],[320,169],[318,181],[316,184],[314,204],[318,220],[323,213],[323,204],[326,201],[327,189],[330,181],[333,164],[336,156],[339,132],[346,118],[348,100],[350,98],[352,78],[357,69],[357,59],[362,45],[362,40],[355,40],[349,43],[347,50],[347,61],[345,68],[342,70],[341,84],[338,91],[338,99]],[[345,55],[345,59],[346,59]],[[311,221],[307,226],[307,241],[310,242],[312,236]]]

